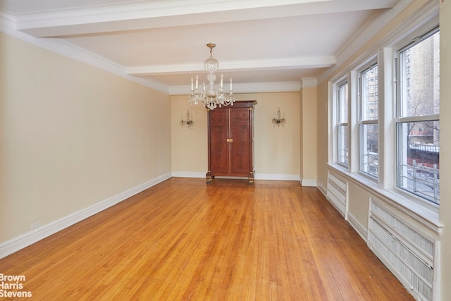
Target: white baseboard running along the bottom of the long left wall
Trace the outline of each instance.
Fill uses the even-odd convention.
[[[118,204],[123,200],[128,199],[129,197],[132,197],[133,195],[136,195],[137,193],[142,192],[143,190],[146,190],[147,188],[151,188],[152,186],[163,182],[163,180],[167,180],[168,178],[171,178],[170,173],[160,176],[158,178],[154,178],[153,180],[149,180],[149,182],[147,183],[121,192],[118,195],[110,197],[109,199],[105,199],[104,201],[99,202],[97,204],[93,204],[92,206],[89,206],[80,211],[76,211],[73,214],[69,214],[68,216],[64,216],[61,219],[57,219],[56,221],[47,223],[30,232],[19,235],[16,238],[7,240],[6,242],[2,242],[0,244],[0,258],[13,254],[14,252],[17,252],[18,250],[21,250],[24,247],[28,247],[29,245],[32,245],[35,242],[38,242],[39,240],[47,238],[48,236],[58,231],[61,231],[64,228],[68,228],[69,226],[72,226],[73,224],[82,221],[83,219],[87,219],[89,216],[93,216],[94,214],[97,214],[100,211],[103,211],[115,204]]]

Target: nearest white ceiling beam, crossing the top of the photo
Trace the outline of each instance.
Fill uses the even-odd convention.
[[[58,1],[56,1],[58,2]],[[167,26],[391,8],[397,0],[169,0],[18,13],[16,28],[35,37],[95,35]]]

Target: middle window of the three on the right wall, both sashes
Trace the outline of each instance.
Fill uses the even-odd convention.
[[[378,178],[378,66],[370,66],[359,77],[359,170]]]

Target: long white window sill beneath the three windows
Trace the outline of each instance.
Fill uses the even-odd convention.
[[[386,190],[380,188],[373,180],[359,175],[358,173],[351,173],[338,164],[328,164],[328,166],[355,185],[360,186],[364,190],[374,194],[376,197],[380,197],[394,207],[397,207],[397,209],[400,209],[410,218],[429,228],[433,233],[440,235],[442,232],[443,225],[440,223],[438,206],[436,207],[433,204],[421,204],[423,201],[398,189]]]

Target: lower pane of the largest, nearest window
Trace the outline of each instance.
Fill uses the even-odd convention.
[[[397,123],[397,133],[398,187],[439,204],[439,122]]]

